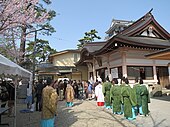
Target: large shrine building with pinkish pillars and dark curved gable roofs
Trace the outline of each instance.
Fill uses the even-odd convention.
[[[129,22],[131,23],[131,22]],[[147,84],[169,85],[169,60],[149,59],[147,54],[170,47],[170,34],[154,19],[151,11],[119,32],[111,25],[105,42],[88,43],[77,66],[88,66],[88,78],[103,80],[128,77],[134,83],[141,77]]]

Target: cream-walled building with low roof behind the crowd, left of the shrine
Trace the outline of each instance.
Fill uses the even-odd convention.
[[[87,71],[82,72],[76,68],[74,63],[79,59],[79,50],[64,50],[52,54],[49,57],[49,63],[39,65],[38,76],[43,79],[50,77],[57,80],[58,78],[67,77],[72,80],[82,80],[83,77],[87,77]]]

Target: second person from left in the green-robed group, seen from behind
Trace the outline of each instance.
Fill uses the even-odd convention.
[[[123,114],[122,103],[121,103],[121,87],[118,84],[118,80],[114,78],[112,80],[112,88],[110,89],[110,99],[112,102],[113,114]]]

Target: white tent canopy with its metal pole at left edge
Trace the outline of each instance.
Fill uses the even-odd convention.
[[[27,71],[26,69],[20,67],[18,64],[10,61],[6,57],[0,54],[0,75],[4,75],[5,77],[14,77],[15,82],[17,83],[18,77],[32,79],[32,73]],[[15,85],[15,119],[14,119],[14,127],[16,127],[16,85]]]

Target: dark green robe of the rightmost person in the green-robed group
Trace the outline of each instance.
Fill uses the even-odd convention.
[[[141,85],[142,111],[144,115],[149,113],[148,103],[150,103],[149,92],[145,85]]]

